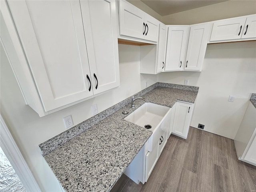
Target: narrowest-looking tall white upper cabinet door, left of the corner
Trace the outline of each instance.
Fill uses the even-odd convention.
[[[165,33],[166,33],[166,26],[164,24],[160,24],[156,73],[161,72],[164,69],[164,65],[165,65],[164,64]]]

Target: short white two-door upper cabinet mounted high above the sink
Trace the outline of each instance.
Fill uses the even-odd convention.
[[[120,35],[158,41],[158,20],[126,1],[120,0],[118,3]]]

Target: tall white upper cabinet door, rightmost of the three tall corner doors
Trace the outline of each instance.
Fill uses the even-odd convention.
[[[207,47],[207,38],[210,24],[190,27],[188,49],[184,70],[201,71]]]

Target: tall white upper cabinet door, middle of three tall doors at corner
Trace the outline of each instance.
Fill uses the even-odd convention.
[[[183,69],[189,26],[169,26],[166,46],[165,71]]]

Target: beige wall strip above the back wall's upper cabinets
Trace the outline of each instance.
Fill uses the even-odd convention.
[[[162,17],[166,25],[190,25],[256,14],[255,0],[230,0]]]

